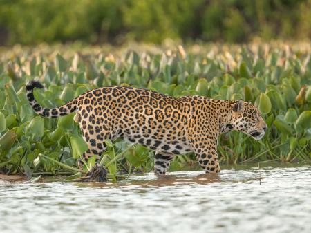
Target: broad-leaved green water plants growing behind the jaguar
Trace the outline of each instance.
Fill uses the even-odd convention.
[[[220,162],[310,161],[310,45],[131,48],[15,46],[1,51],[0,169],[28,176],[79,172],[73,168],[75,160],[86,150],[73,114],[59,119],[35,115],[25,94],[28,80],[46,86],[46,90],[35,89],[36,99],[46,107],[64,104],[96,86],[116,84],[176,97],[250,101],[263,113],[267,133],[261,141],[238,132],[224,134],[218,148]],[[106,143],[109,148],[101,164],[111,175],[153,169],[152,151],[122,141]],[[194,155],[177,156],[170,169],[181,169],[194,160]]]

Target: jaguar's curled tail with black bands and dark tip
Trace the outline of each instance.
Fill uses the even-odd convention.
[[[53,109],[47,109],[41,106],[36,100],[35,96],[33,95],[33,88],[44,88],[42,84],[38,81],[30,81],[26,84],[26,93],[27,98],[32,106],[32,109],[39,115],[45,116],[47,118],[57,118],[61,115],[68,115],[69,113],[73,113],[77,110],[77,100],[72,100],[67,104],[59,106]]]

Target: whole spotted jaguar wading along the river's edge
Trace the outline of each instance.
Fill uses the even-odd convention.
[[[75,122],[88,143],[84,160],[105,150],[105,139],[123,138],[156,151],[155,173],[165,174],[173,156],[194,151],[205,172],[220,171],[217,144],[220,133],[238,130],[259,140],[267,124],[256,107],[243,100],[207,97],[175,98],[126,86],[97,88],[54,109],[40,106],[26,85],[30,105],[39,115],[57,118],[76,112]],[[81,163],[79,163],[81,165]]]

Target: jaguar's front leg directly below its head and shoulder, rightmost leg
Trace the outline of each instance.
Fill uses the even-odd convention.
[[[194,141],[191,144],[200,166],[206,173],[220,172],[217,156],[217,138],[200,140],[200,142]]]

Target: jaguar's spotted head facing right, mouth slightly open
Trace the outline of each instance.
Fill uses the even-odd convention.
[[[267,124],[261,117],[256,106],[243,100],[237,100],[232,105],[232,129],[241,131],[255,140],[265,135]]]

